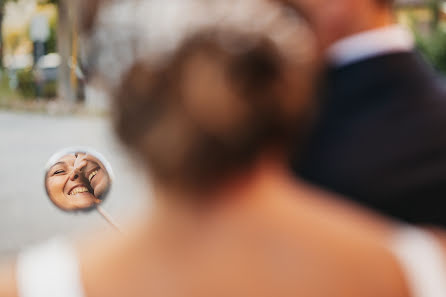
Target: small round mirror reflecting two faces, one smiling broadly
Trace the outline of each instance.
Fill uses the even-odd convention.
[[[65,211],[90,210],[104,201],[111,186],[110,166],[96,152],[64,150],[48,162],[45,188]]]

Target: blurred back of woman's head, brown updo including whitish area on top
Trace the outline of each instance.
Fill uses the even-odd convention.
[[[158,182],[205,189],[298,139],[315,72],[299,17],[269,0],[96,2],[85,64]]]

